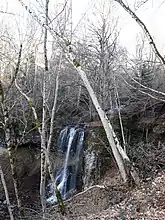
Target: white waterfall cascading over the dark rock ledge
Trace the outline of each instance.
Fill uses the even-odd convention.
[[[82,178],[84,129],[80,127],[65,127],[58,138],[58,153],[64,155],[62,167],[56,170],[55,183],[65,200],[75,193]],[[50,197],[48,203],[56,203],[53,184],[48,185]]]

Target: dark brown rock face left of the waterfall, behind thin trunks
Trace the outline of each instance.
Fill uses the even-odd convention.
[[[35,148],[35,146],[18,147],[17,150],[12,150],[12,156],[19,192],[24,198],[27,197],[25,191],[35,191],[38,188],[40,180],[40,149]],[[13,197],[13,181],[7,150],[3,150],[3,153],[0,154],[0,165],[5,174],[9,195]],[[1,197],[2,199],[4,198],[2,187],[0,187],[0,199]]]

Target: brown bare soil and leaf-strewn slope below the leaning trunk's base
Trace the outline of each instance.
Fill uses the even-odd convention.
[[[165,219],[165,172],[134,189],[94,186],[66,204],[65,217],[51,208],[52,220],[159,220]]]

